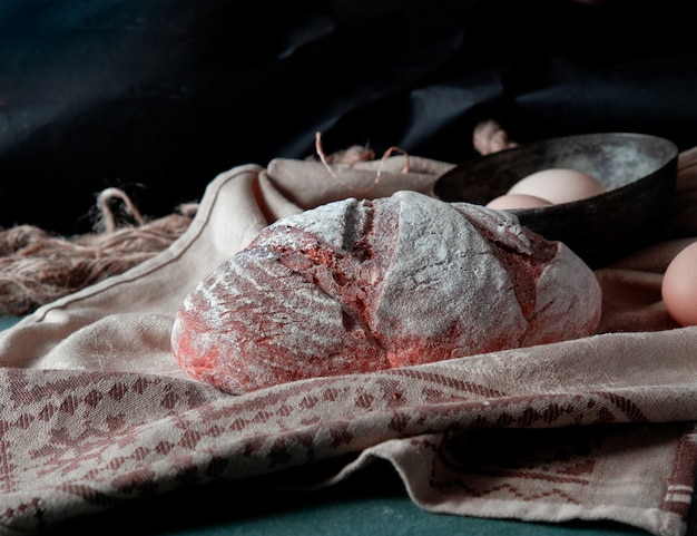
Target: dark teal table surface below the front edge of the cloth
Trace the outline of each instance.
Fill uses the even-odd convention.
[[[608,523],[540,524],[431,514],[406,496],[386,462],[320,491],[215,483],[73,520],[55,534],[87,536],[104,527],[131,536],[638,536]],[[53,535],[51,535],[53,536]]]

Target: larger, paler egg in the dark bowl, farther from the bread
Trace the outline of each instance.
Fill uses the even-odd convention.
[[[590,175],[562,168],[542,169],[528,175],[508,191],[509,194],[526,194],[549,199],[554,205],[585,199],[603,192],[607,192],[607,188]]]

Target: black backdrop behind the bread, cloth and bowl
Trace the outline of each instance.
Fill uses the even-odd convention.
[[[684,3],[685,6],[681,6]],[[697,145],[690,2],[2,0],[0,227],[89,231],[96,194],[167,214],[218,173],[397,145],[475,156],[631,130]]]

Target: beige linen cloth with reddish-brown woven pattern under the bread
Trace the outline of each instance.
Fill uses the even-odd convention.
[[[681,184],[694,182],[694,156],[681,155]],[[379,165],[337,172],[370,183]],[[452,165],[412,157],[403,167],[404,157],[389,158],[373,194],[430,193]],[[209,184],[169,248],[3,332],[0,533],[55,526],[183,480],[235,486],[298,466],[312,476],[311,462],[353,455],[315,484],[384,459],[431,511],[609,519],[684,535],[697,458],[697,331],[673,329],[654,292],[660,266],[647,272],[644,260],[598,272],[615,306],[603,332],[585,339],[244,396],[179,370],[169,334],[196,284],[274,220],[352,195],[315,162],[236,167]],[[697,235],[681,195],[693,191],[679,188],[683,209],[667,240]]]

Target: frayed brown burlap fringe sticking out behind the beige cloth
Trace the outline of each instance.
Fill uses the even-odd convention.
[[[316,144],[327,166],[375,158],[365,147],[324,155],[320,135]],[[477,125],[472,144],[482,155],[516,146],[492,119]],[[394,149],[401,150],[393,147],[383,159]],[[380,173],[375,181],[379,178]],[[121,203],[121,212],[130,220],[128,224],[117,223],[110,207],[115,201]],[[97,198],[99,215],[91,234],[65,238],[31,225],[0,231],[0,316],[28,314],[40,305],[147,261],[188,228],[197,207],[196,203],[181,205],[171,215],[148,222],[124,192],[107,188]]]

